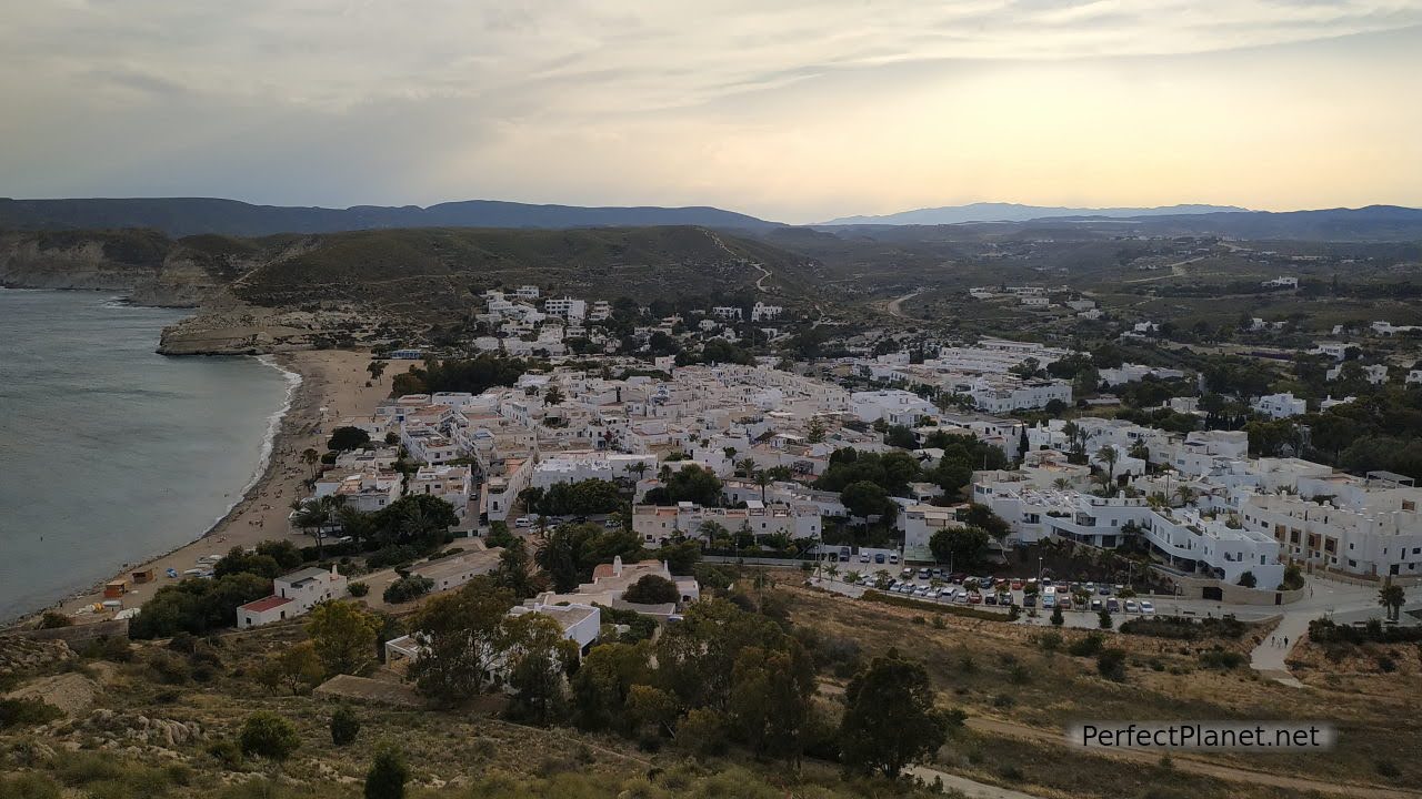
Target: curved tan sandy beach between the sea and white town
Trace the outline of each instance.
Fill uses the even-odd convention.
[[[182,574],[196,567],[201,556],[220,556],[235,546],[255,546],[267,539],[292,539],[299,546],[314,543],[314,539],[293,532],[287,523],[292,499],[307,496],[301,482],[310,475],[310,466],[301,462],[301,452],[307,448],[326,452],[326,439],[336,424],[346,417],[374,412],[375,405],[390,394],[391,378],[405,370],[404,363],[391,363],[391,368],[381,380],[371,381],[367,387],[368,351],[301,351],[283,353],[273,358],[282,368],[300,374],[301,384],[296,388],[292,407],[273,439],[266,471],[206,535],[193,530],[195,537],[202,537],[161,557],[125,564],[115,573],[118,579],[129,577],[135,570],[152,569],[156,576],[155,581],[146,584],[134,584],[129,580],[129,591],[124,596],[125,608],[139,607],[158,589],[175,583],[176,580],[165,576],[168,569]],[[237,489],[240,486],[233,486],[233,490]],[[104,591],[100,584],[48,610],[74,614],[102,600]],[[111,613],[85,614],[75,617],[75,621],[100,621],[111,616]]]

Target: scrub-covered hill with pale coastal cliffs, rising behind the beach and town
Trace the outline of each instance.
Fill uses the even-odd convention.
[[[459,337],[488,289],[811,303],[816,262],[693,226],[569,230],[422,227],[172,239],[156,230],[0,233],[0,286],[97,289],[201,307],[162,351],[264,353],[435,333]]]

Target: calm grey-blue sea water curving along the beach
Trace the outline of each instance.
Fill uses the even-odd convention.
[[[255,478],[289,375],[155,354],[185,313],[0,289],[0,618],[196,539]]]

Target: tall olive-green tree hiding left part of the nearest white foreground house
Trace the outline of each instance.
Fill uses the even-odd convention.
[[[513,594],[488,577],[425,603],[410,624],[421,647],[410,664],[419,692],[447,707],[482,692],[506,648],[503,621],[510,607]]]

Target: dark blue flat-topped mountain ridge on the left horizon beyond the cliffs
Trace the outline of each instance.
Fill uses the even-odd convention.
[[[429,208],[358,205],[346,209],[250,205],[210,198],[3,199],[0,229],[63,230],[148,227],[169,236],[218,233],[336,233],[387,227],[656,227],[694,225],[737,230],[779,227],[718,208],[582,208],[499,200],[445,202]]]

